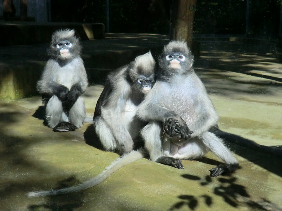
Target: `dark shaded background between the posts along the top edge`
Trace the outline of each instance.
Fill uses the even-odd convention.
[[[110,32],[169,34],[171,0],[109,2]],[[248,34],[278,37],[280,4],[280,0],[251,0]],[[197,0],[194,33],[245,34],[246,11],[247,0]],[[106,0],[51,0],[51,21],[106,25]]]

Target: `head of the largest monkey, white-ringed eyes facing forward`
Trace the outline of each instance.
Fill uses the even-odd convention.
[[[187,73],[193,65],[193,55],[183,41],[170,41],[158,58],[159,66],[172,73]]]

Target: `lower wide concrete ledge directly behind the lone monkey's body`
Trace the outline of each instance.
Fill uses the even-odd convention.
[[[89,83],[103,84],[109,71],[149,50],[158,54],[168,40],[157,34],[107,34],[105,39],[81,41]],[[48,43],[0,48],[0,100],[38,94],[36,82],[48,60],[47,48]]]

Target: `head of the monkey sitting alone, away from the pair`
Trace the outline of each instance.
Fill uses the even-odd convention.
[[[48,51],[52,58],[60,61],[71,60],[81,53],[79,39],[73,29],[60,29],[53,33]]]

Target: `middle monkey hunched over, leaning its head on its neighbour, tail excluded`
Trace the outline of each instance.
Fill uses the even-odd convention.
[[[107,151],[128,153],[140,134],[136,107],[152,88],[155,60],[149,51],[107,77],[94,112],[94,129]]]

